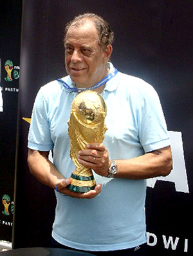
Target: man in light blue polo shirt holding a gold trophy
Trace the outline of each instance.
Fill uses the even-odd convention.
[[[67,25],[69,75],[37,94],[28,164],[39,181],[55,188],[55,246],[95,255],[145,255],[145,179],[170,173],[170,141],[158,95],[142,79],[116,71],[109,63],[112,43],[111,27],[98,15],[80,15]],[[94,170],[97,184],[95,190],[75,193],[66,188],[75,169],[67,121],[71,102],[85,88],[106,100],[108,130],[104,143],[78,152],[78,161]]]

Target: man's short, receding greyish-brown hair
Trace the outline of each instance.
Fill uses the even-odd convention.
[[[72,21],[69,21],[69,23],[67,23],[65,28],[64,43],[66,41],[66,34],[71,26],[79,28],[87,21],[92,21],[96,27],[96,30],[98,32],[98,45],[100,46],[100,48],[104,50],[107,45],[113,43],[114,33],[111,29],[111,26],[102,17],[92,13],[80,14]]]

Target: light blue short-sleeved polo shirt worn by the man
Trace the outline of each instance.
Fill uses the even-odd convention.
[[[73,86],[69,76],[63,80]],[[66,178],[75,169],[69,157],[67,121],[76,95],[59,81],[42,86],[28,135],[28,148],[53,150],[53,163]],[[169,146],[160,100],[151,85],[118,72],[107,82],[102,96],[107,104],[104,144],[111,159],[131,159]],[[96,182],[104,185],[95,199],[75,199],[56,192],[53,238],[71,248],[89,251],[121,250],[146,242],[146,181],[94,174]]]

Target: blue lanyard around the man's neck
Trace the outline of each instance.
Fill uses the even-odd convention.
[[[115,75],[118,73],[118,70],[116,68],[113,68],[111,73],[104,77],[104,79],[100,80],[98,83],[94,84],[93,86],[89,88],[77,88],[77,87],[70,87],[66,82],[64,82],[62,79],[57,79],[57,81],[62,82],[62,85],[65,89],[71,91],[71,92],[83,92],[86,90],[95,90],[96,88],[102,86],[103,84],[106,84],[111,78],[115,77]]]

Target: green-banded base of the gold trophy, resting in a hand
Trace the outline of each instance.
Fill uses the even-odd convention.
[[[86,193],[90,190],[94,190],[96,186],[95,178],[93,175],[80,176],[72,173],[70,180],[71,184],[69,184],[66,188],[68,188],[68,190],[71,190],[72,192]]]

